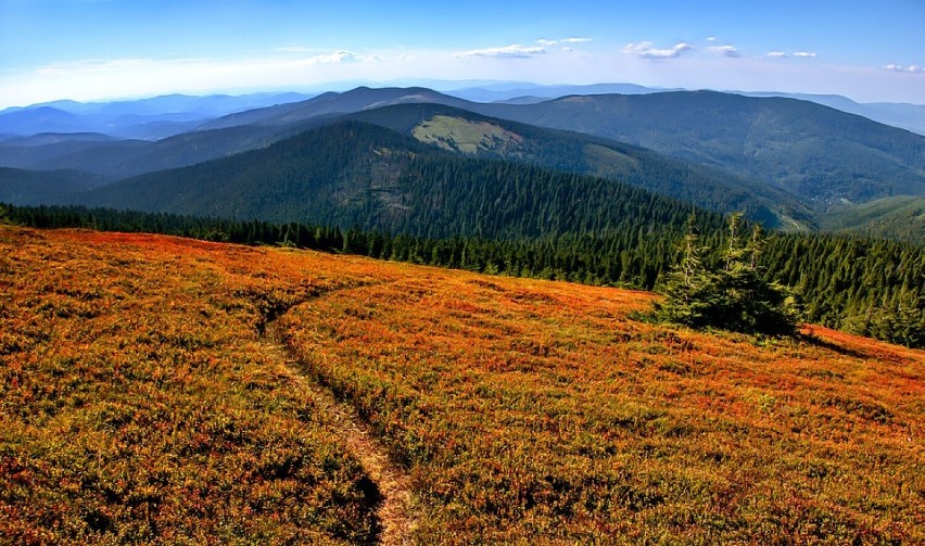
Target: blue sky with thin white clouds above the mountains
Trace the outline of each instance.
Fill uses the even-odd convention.
[[[0,107],[418,79],[923,104],[923,0],[0,0]]]

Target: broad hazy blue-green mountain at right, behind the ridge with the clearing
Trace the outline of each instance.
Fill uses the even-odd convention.
[[[714,165],[822,208],[841,200],[925,195],[925,137],[796,99],[676,91],[473,110]]]

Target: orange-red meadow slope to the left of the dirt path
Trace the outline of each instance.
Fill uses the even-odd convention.
[[[0,226],[0,543],[375,536],[368,478],[258,337],[360,280],[276,257]]]

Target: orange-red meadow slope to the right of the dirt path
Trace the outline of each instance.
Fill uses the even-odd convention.
[[[411,467],[422,544],[925,539],[925,354],[628,318],[651,297],[407,269],[281,322]]]

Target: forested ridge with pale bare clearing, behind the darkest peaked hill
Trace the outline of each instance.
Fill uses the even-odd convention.
[[[544,129],[440,104],[401,104],[352,114],[453,153],[600,176],[718,211],[744,211],[769,228],[806,229],[812,212],[783,190],[651,150]]]

